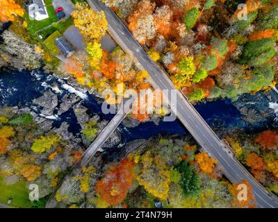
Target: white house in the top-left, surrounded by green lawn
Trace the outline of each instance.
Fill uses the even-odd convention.
[[[43,0],[31,0],[27,8],[30,19],[40,21],[49,17]]]

